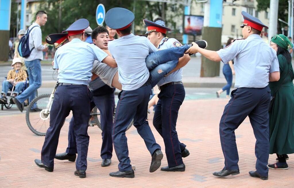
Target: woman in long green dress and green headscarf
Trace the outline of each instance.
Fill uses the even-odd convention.
[[[273,107],[269,111],[269,153],[276,153],[278,162],[268,164],[268,168],[288,169],[287,154],[294,153],[294,72],[288,52],[293,44],[285,35],[279,34],[271,39],[270,46],[277,51],[280,80],[269,83],[271,95],[275,96]]]

